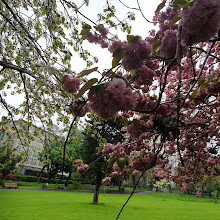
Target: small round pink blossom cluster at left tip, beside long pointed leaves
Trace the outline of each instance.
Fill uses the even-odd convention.
[[[70,75],[65,75],[63,77],[63,89],[69,93],[75,93],[80,86],[80,79],[70,76]]]

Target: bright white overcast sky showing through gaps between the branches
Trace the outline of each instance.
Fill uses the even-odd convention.
[[[129,7],[138,8],[136,0],[121,0],[121,1]],[[80,5],[83,2],[83,0],[76,0],[75,2],[77,5]],[[160,4],[160,2],[161,0],[154,0],[154,1],[139,0],[142,12],[147,19],[152,20],[154,11],[157,8],[157,5]],[[129,9],[126,9],[118,0],[109,0],[109,3],[110,4],[113,3],[113,5],[116,6],[116,15],[121,20],[125,18],[125,15],[128,11],[131,11]],[[89,17],[91,20],[96,21],[97,14],[102,12],[105,5],[106,5],[106,0],[90,0],[89,7],[84,6],[81,8],[80,11],[83,14],[85,14],[87,17]],[[131,34],[139,35],[145,38],[146,36],[148,36],[149,30],[153,28],[153,25],[148,23],[142,17],[139,11],[136,11],[135,18],[136,18],[135,21],[131,23],[132,26]],[[119,32],[115,32],[114,34],[118,34],[119,39],[125,40],[126,34],[119,34]],[[99,63],[95,64],[94,66],[98,66],[100,71],[111,68],[112,54],[110,54],[107,49],[102,49],[99,45],[94,45],[89,43],[86,43],[85,45],[86,47],[88,47],[88,50],[93,55],[99,58]],[[74,55],[71,62],[72,62],[73,70],[76,71],[77,73],[86,68],[86,63],[82,59],[80,59],[78,55]],[[24,95],[21,94],[21,95],[12,96],[8,93],[8,96],[5,99],[8,104],[13,106],[19,106],[19,104],[22,103],[24,100]],[[0,116],[3,115],[7,115],[7,112],[0,106]]]

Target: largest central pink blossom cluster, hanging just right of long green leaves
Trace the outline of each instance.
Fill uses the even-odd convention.
[[[113,117],[118,111],[135,108],[138,95],[122,79],[114,78],[99,93],[88,94],[90,108],[103,119]]]

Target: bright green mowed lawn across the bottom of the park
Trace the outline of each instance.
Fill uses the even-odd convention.
[[[128,195],[100,194],[99,205],[92,204],[92,198],[92,193],[0,191],[0,219],[115,219]],[[134,195],[120,219],[219,220],[220,201],[177,194]]]

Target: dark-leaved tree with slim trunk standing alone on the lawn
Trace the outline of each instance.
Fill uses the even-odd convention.
[[[121,128],[122,123],[116,123],[113,120],[103,121],[95,115],[90,115],[88,120],[81,156],[85,163],[92,164],[86,173],[86,179],[95,184],[93,203],[98,203],[102,179],[110,172],[107,168],[107,157],[99,153],[104,143],[117,143],[123,139]]]

